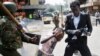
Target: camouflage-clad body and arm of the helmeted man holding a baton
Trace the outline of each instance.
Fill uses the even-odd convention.
[[[0,53],[3,56],[21,56],[17,49],[22,47],[22,41],[34,43],[34,39],[19,31],[20,29],[21,26],[17,26],[6,15],[0,18]]]

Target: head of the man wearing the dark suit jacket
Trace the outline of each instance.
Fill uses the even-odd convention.
[[[75,16],[78,16],[80,13],[80,3],[78,1],[74,1],[70,4],[70,8]]]

